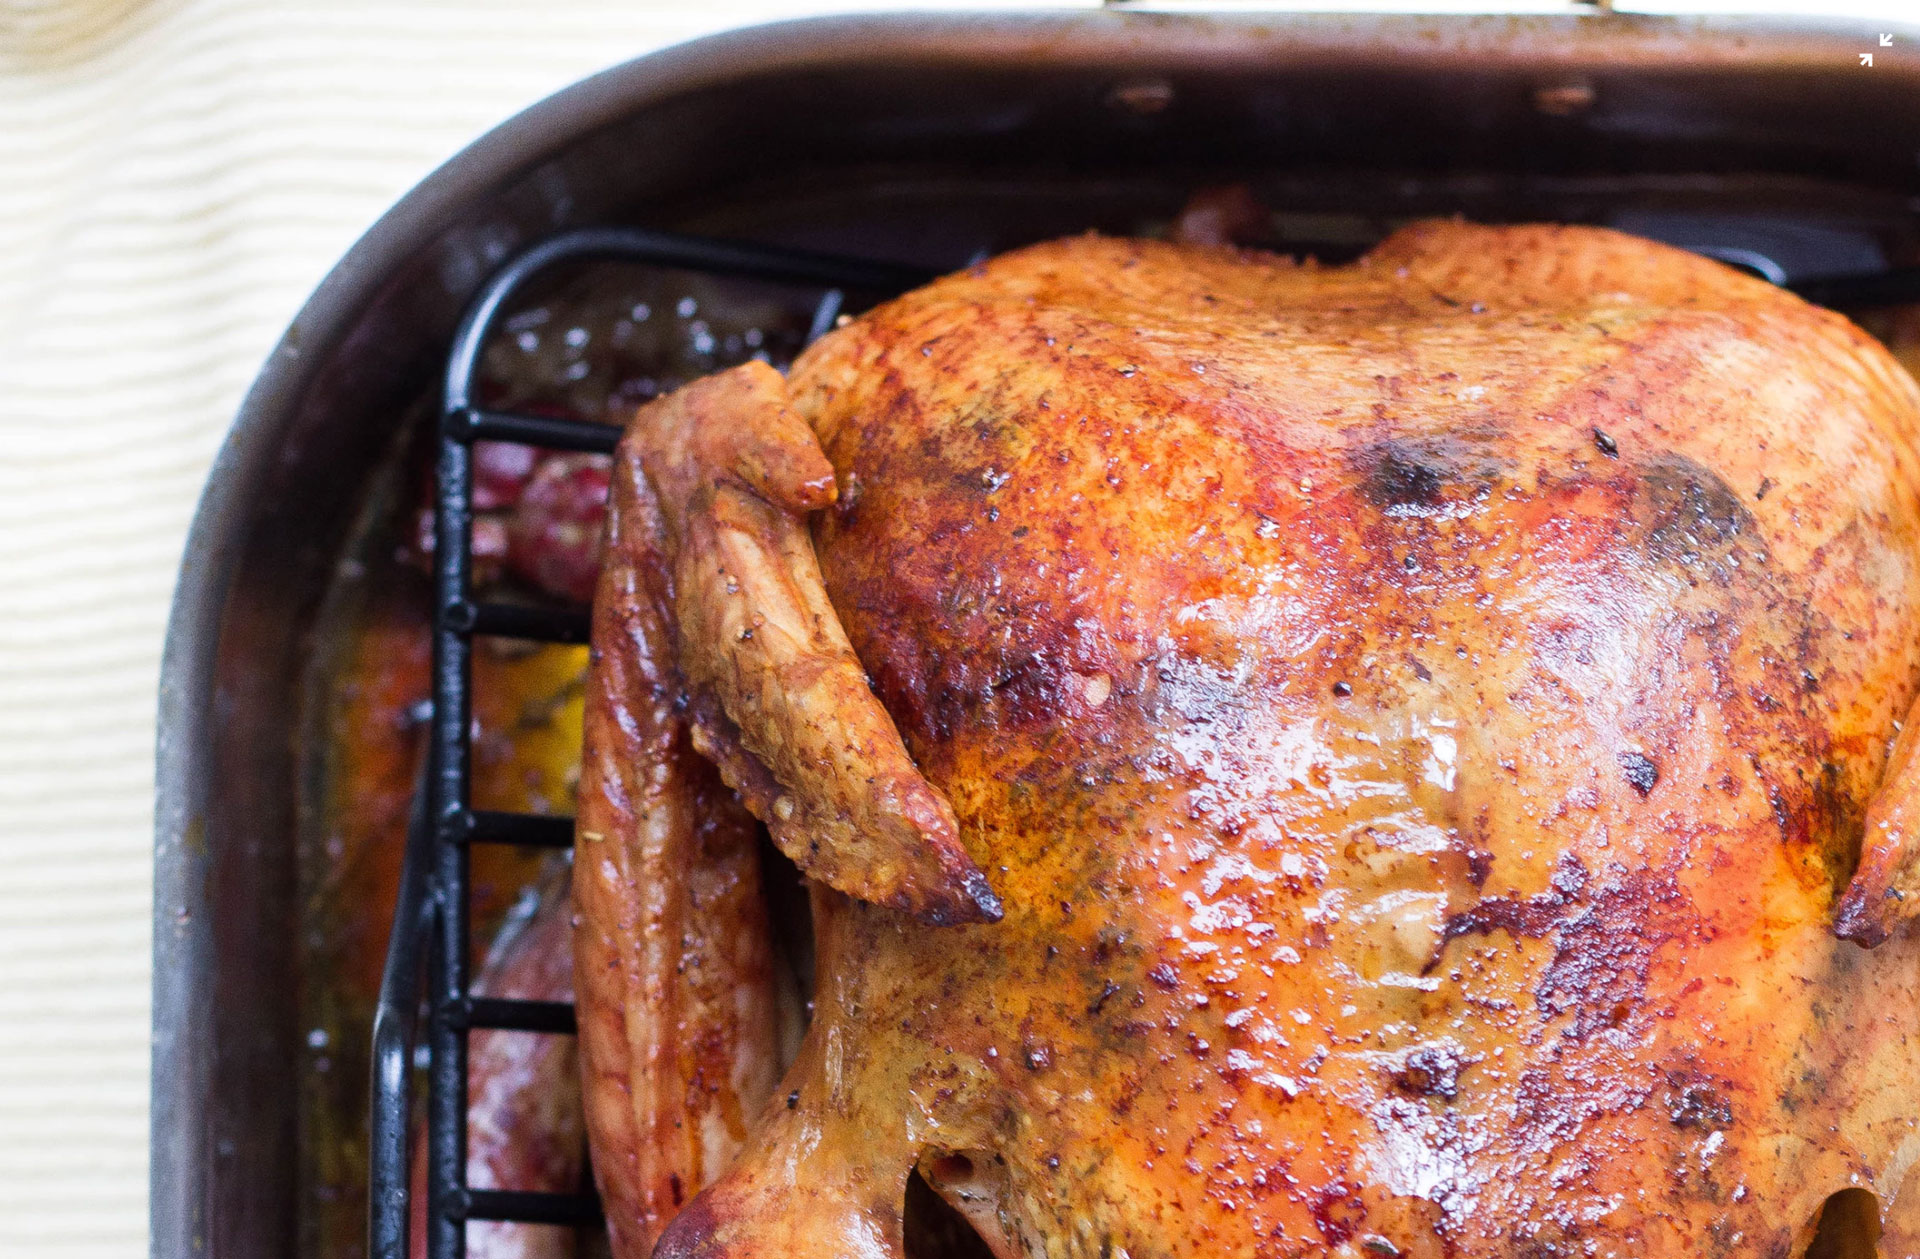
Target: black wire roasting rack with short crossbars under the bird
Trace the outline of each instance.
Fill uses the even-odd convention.
[[[1722,255],[1766,278],[1784,278],[1764,259]],[[1749,253],[1749,251],[1738,251]],[[472,597],[472,443],[515,441],[561,451],[611,453],[612,424],[490,411],[474,401],[474,376],[488,336],[507,303],[536,274],[582,259],[645,263],[674,271],[820,288],[808,340],[833,326],[849,290],[889,296],[933,276],[895,263],[829,257],[756,244],[705,240],[637,228],[588,228],[547,238],[513,257],[488,280],[461,321],[447,355],[440,413],[434,503],[432,720],[422,781],[388,938],[386,969],[372,1031],[372,1115],[369,1159],[369,1251],[407,1259],[411,1230],[411,1117],[415,1046],[426,1027],[426,1255],[461,1259],[467,1221],[589,1224],[599,1219],[591,1192],[545,1194],[474,1188],[467,1182],[467,1034],[501,1029],[572,1034],[566,1002],[503,1000],[468,988],[468,887],[472,844],[568,848],[572,818],[501,814],[470,806],[472,639],[497,635],[541,643],[584,643],[588,614],[480,603]],[[1772,267],[1772,271],[1768,271]],[[1920,269],[1812,278],[1788,284],[1836,307],[1920,301]]]

